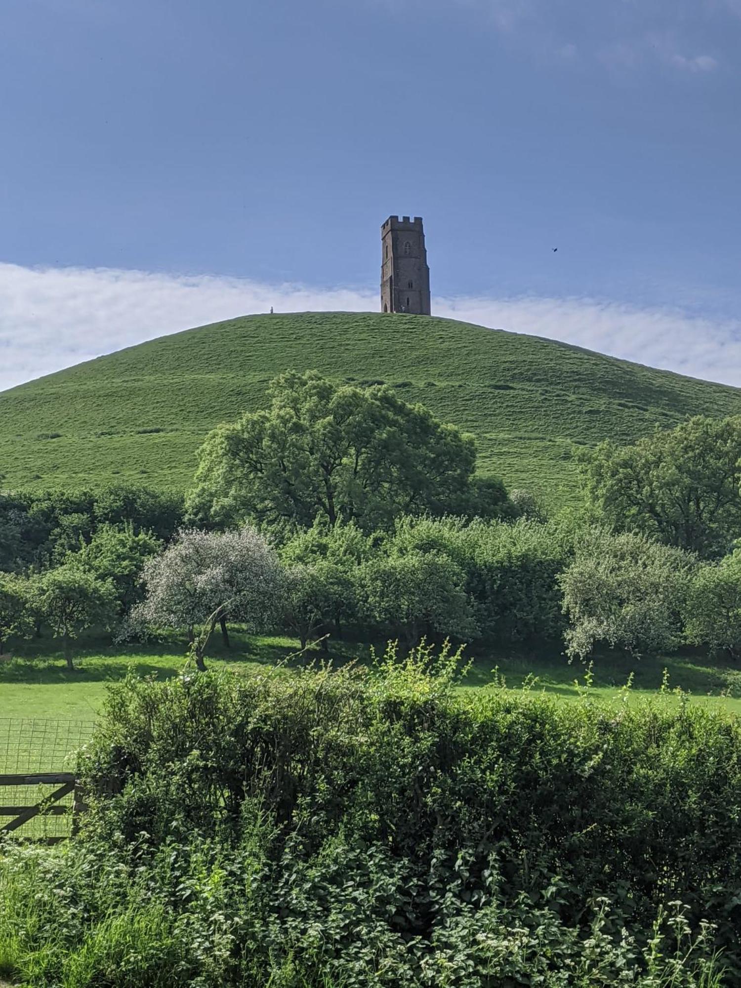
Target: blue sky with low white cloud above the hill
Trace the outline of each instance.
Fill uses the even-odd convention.
[[[255,311],[741,385],[741,0],[3,0],[0,388]],[[557,250],[553,250],[556,247]]]

